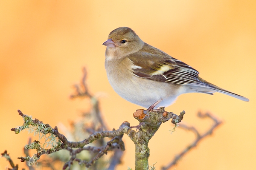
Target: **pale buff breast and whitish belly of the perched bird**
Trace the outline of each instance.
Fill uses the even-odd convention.
[[[105,61],[108,80],[122,98],[147,108],[160,99],[165,100],[162,106],[170,105],[179,95],[173,91],[178,88],[177,85],[137,77],[133,74],[132,67],[134,65],[128,58],[122,61]]]

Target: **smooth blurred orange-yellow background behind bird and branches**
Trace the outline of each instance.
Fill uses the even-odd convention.
[[[17,109],[52,127],[69,125],[89,102],[70,100],[72,85],[88,70],[90,91],[100,97],[108,126],[138,122],[140,106],[119,97],[105,73],[108,34],[128,26],[142,40],[191,65],[200,76],[250,99],[224,94],[181,95],[167,111],[185,110],[183,122],[204,132],[212,125],[196,117],[210,111],[224,121],[175,166],[176,170],[256,169],[256,1],[67,1],[1,0],[0,2],[0,152],[8,150],[15,163],[23,156],[28,135],[11,132],[22,125]],[[122,113],[122,116],[119,114]],[[149,142],[149,164],[160,169],[195,136],[171,122]],[[125,136],[126,151],[118,170],[134,169],[134,144]],[[8,162],[0,159],[0,169]],[[172,168],[174,169],[174,168]]]

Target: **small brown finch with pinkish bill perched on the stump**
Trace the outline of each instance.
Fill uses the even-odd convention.
[[[167,107],[186,93],[219,92],[249,101],[202,79],[197,70],[143,42],[129,27],[111,31],[103,45],[108,81],[119,96],[136,105]]]

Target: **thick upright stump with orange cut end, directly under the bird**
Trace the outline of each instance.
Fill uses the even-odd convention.
[[[137,110],[134,113],[134,118],[140,122],[139,131],[130,131],[128,136],[135,144],[135,169],[145,170],[148,167],[149,148],[148,142],[157,132],[160,125],[172,119],[172,123],[179,123],[183,119],[185,111],[179,116],[172,112],[164,111],[160,108],[159,111]]]

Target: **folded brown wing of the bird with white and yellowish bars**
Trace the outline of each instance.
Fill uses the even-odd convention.
[[[132,70],[137,77],[179,85],[201,86],[203,83],[198,79],[197,70],[151,45],[145,44],[128,57],[134,63]]]

